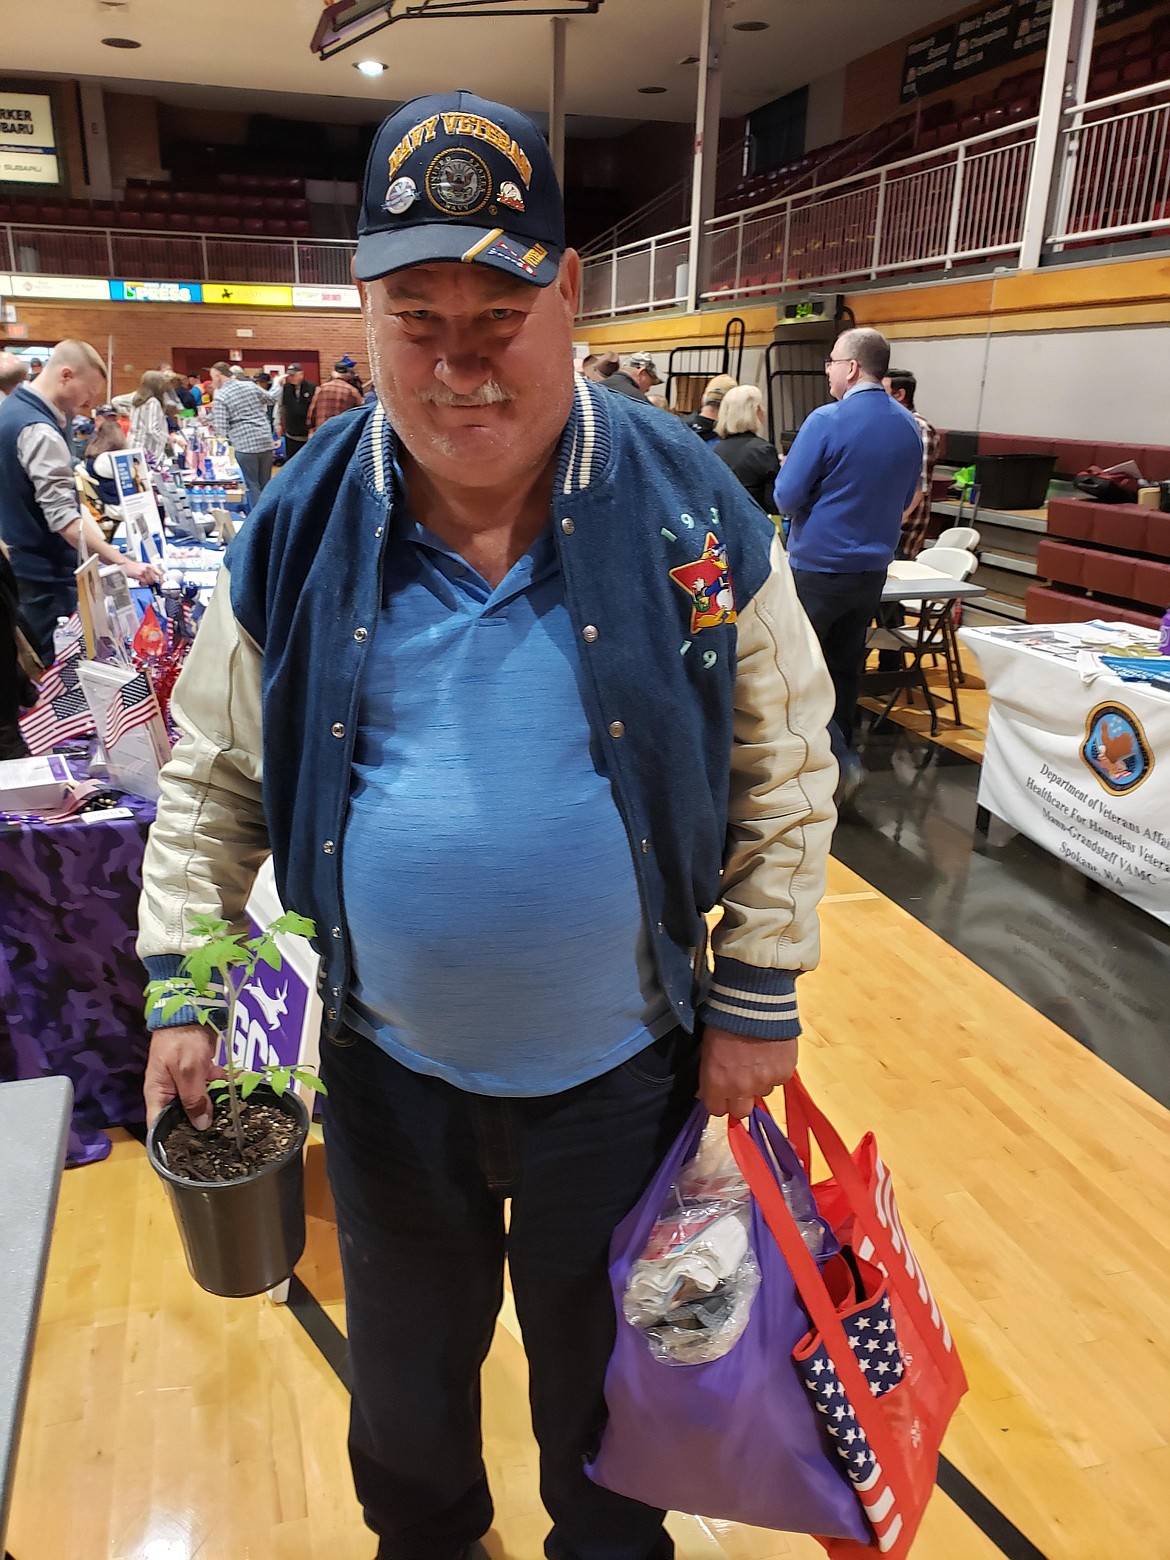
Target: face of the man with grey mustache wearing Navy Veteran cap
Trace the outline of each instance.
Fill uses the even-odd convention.
[[[573,406],[573,250],[549,287],[485,265],[413,265],[362,284],[374,388],[410,456],[438,480],[530,474]]]

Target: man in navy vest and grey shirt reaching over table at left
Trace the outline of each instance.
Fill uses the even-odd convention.
[[[161,579],[112,548],[84,513],[73,482],[67,431],[76,412],[101,399],[106,365],[89,342],[58,342],[31,384],[0,406],[0,538],[20,591],[20,613],[41,660],[53,658],[53,629],[76,607],[80,552],[119,563],[129,579]]]

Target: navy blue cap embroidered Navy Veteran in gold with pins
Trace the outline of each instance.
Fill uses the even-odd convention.
[[[462,261],[548,287],[565,250],[565,203],[537,126],[473,92],[412,98],[370,148],[354,276]]]

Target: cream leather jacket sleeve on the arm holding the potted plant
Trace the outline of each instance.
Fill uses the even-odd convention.
[[[237,922],[268,855],[261,651],[232,616],[229,585],[225,566],[172,697],[183,735],[159,775],[162,796],[142,866],[144,959],[189,952],[193,914]]]

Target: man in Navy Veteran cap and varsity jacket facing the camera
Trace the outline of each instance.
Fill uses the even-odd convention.
[[[830,685],[735,477],[574,381],[580,262],[529,120],[466,92],[398,109],[354,270],[381,404],[317,434],[236,540],[175,694],[139,950],[172,975],[189,914],[239,917],[268,852],[317,922],[382,1560],[480,1552],[505,1254],[546,1554],[666,1560],[663,1513],[582,1471],[607,1251],[696,1089],[744,1115],[796,1062]],[[178,1095],[206,1125],[211,1064],[203,1030],[159,1026],[151,1119]]]

